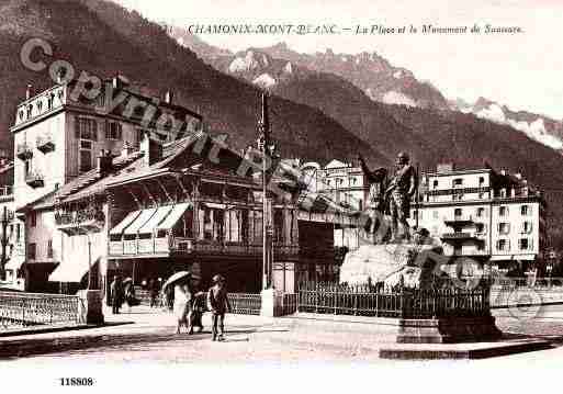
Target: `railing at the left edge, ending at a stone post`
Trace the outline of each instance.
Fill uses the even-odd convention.
[[[0,327],[79,324],[82,308],[77,295],[0,292]]]

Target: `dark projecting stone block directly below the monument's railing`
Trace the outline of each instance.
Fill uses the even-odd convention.
[[[397,325],[397,344],[489,341],[503,336],[493,316],[398,319]]]

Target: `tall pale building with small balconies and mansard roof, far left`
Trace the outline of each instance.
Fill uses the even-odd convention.
[[[124,77],[103,81],[93,99],[76,94],[78,83],[59,81],[35,95],[29,87],[25,100],[16,108],[11,133],[13,204],[19,218],[25,217],[29,205],[48,206],[55,191],[94,169],[100,153],[119,156],[124,147],[138,147],[147,132],[165,142],[174,133],[193,131],[202,120],[174,105],[171,92],[164,100],[142,94]],[[25,229],[16,233],[25,239],[27,282],[46,282],[59,261],[52,222],[43,221],[40,210],[25,217]]]

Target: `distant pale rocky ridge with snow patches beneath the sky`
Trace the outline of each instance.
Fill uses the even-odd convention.
[[[311,71],[333,74],[362,90],[373,101],[473,113],[480,119],[509,125],[531,139],[563,151],[563,121],[526,111],[511,111],[484,98],[473,104],[462,99],[447,100],[430,82],[418,80],[414,72],[393,66],[378,53],[335,54],[326,49],[324,53],[300,54],[285,43],[279,43],[234,54],[205,44],[180,27],[169,27],[169,34],[217,70],[272,91]]]

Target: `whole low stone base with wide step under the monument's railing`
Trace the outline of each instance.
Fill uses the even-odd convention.
[[[460,322],[463,327],[455,320],[443,319],[296,313],[277,322],[291,327],[301,345],[376,352],[382,359],[483,359],[551,348],[543,339],[503,335],[493,318],[472,322],[463,318]],[[487,328],[478,328],[480,324]],[[473,330],[468,333],[468,327]],[[283,341],[291,342],[291,339],[283,338]]]

